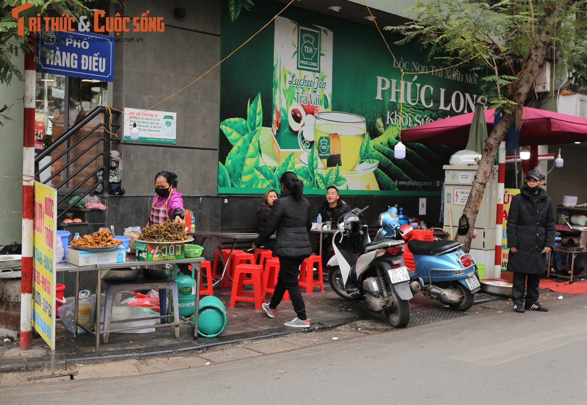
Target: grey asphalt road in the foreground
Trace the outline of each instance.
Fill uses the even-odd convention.
[[[253,341],[174,366],[160,359],[156,373],[154,362],[150,373],[125,376],[119,362],[96,365],[117,367],[122,373],[108,374],[116,377],[4,379],[0,403],[583,405],[587,297],[548,304],[547,313],[518,314],[505,302],[380,333],[361,325],[295,333],[287,339],[307,344]]]

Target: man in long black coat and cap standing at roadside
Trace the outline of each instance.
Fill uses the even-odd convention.
[[[544,174],[530,170],[525,181],[520,194],[512,198],[507,223],[508,270],[514,273],[512,301],[515,312],[546,312],[548,308],[538,302],[538,284],[546,272],[546,256],[554,248],[554,210],[546,190],[540,187]]]

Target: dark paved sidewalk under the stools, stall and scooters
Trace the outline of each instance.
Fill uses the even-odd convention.
[[[80,363],[103,363],[123,359],[147,359],[149,357],[173,357],[198,353],[210,347],[230,345],[244,340],[266,339],[289,333],[308,333],[336,328],[357,320],[372,319],[387,325],[384,315],[377,316],[367,311],[363,303],[356,303],[349,311],[340,311],[348,301],[340,298],[328,284],[325,291],[318,288],[312,294],[303,293],[306,312],[312,321],[308,329],[288,328],[284,322],[295,318],[291,302],[282,302],[274,319],[263,311],[256,311],[253,303],[237,303],[228,308],[230,288],[217,288],[215,295],[227,310],[227,326],[215,338],[193,339],[193,326],[181,325],[180,338],[174,338],[174,328],[158,328],[152,333],[110,333],[109,343],[100,344],[100,353],[95,352],[95,337],[84,333],[73,337],[63,323],[56,325],[55,369],[71,368]],[[267,298],[269,299],[269,298]],[[488,301],[506,301],[507,297],[475,294],[475,304]],[[429,324],[439,320],[474,316],[475,307],[467,312],[453,311],[436,301],[424,298],[420,293],[410,301],[411,317],[408,328]],[[0,372],[21,372],[50,369],[51,351],[42,339],[33,339],[30,350],[21,350],[19,342],[0,342]]]

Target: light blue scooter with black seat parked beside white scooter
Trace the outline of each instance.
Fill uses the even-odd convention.
[[[474,293],[481,289],[474,259],[465,254],[457,241],[419,241],[410,239],[413,228],[400,225],[397,209],[379,215],[376,239],[403,239],[414,256],[416,268],[410,271],[410,289],[415,294],[436,299],[458,311],[467,311],[474,301]],[[402,258],[403,261],[403,258]],[[403,265],[403,263],[402,263]]]

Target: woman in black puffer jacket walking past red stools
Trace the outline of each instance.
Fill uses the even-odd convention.
[[[271,302],[263,304],[263,310],[269,318],[275,318],[275,310],[285,291],[294,305],[297,318],[285,322],[285,326],[309,328],[310,320],[306,316],[306,305],[299,289],[299,266],[312,251],[308,231],[312,228],[310,203],[303,197],[303,183],[292,171],[286,171],[279,178],[281,198],[273,203],[271,215],[252,248],[262,246],[277,231],[274,255],[279,257],[279,275]]]

